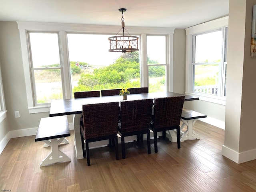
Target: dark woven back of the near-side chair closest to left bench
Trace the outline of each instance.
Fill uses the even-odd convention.
[[[117,134],[119,102],[82,105],[85,139]]]

